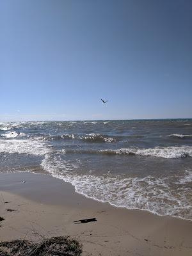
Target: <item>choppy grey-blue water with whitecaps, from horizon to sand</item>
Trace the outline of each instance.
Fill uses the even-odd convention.
[[[0,172],[39,172],[117,207],[192,220],[192,120],[0,123]]]

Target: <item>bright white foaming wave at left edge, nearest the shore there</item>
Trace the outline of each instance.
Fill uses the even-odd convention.
[[[18,154],[32,154],[35,156],[44,156],[50,152],[50,148],[46,147],[45,143],[36,140],[0,140],[0,153],[18,153]]]

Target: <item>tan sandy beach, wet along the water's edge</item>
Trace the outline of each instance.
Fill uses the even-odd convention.
[[[192,255],[192,221],[103,204],[49,175],[1,173],[0,189],[1,241],[72,236],[83,255]],[[97,221],[74,223],[86,218]]]

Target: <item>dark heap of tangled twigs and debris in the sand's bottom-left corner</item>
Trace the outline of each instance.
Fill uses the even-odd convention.
[[[0,243],[1,256],[80,256],[82,246],[75,239],[59,236],[43,239],[38,243],[13,240]]]

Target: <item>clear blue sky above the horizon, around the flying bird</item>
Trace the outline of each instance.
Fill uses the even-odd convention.
[[[191,13],[191,0],[1,0],[0,122],[191,118]]]

